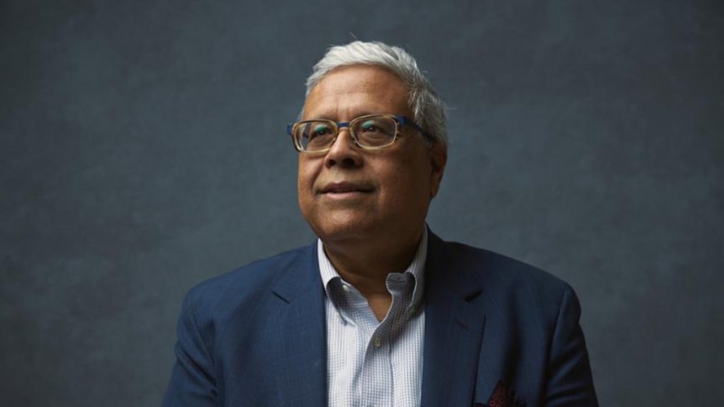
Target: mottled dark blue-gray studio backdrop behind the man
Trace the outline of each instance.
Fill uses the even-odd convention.
[[[2,406],[157,406],[185,291],[311,242],[285,124],[350,33],[450,105],[432,229],[576,288],[602,405],[720,404],[724,4],[341,3],[0,3]]]

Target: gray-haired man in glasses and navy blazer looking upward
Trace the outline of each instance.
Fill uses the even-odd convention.
[[[409,54],[329,49],[300,119],[319,240],[190,291],[164,406],[597,406],[573,290],[427,230],[445,110]]]

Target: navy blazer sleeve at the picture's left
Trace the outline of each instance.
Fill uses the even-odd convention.
[[[214,360],[199,330],[190,295],[177,325],[176,362],[162,407],[216,406]]]

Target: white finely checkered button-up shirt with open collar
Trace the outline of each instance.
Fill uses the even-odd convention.
[[[330,407],[420,405],[426,253],[425,229],[408,269],[387,275],[392,306],[379,322],[366,298],[337,274],[318,241],[319,271],[327,293],[324,303]]]

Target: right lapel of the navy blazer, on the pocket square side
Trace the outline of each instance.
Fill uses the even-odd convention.
[[[429,233],[422,406],[470,406],[485,326],[480,277]],[[467,267],[466,267],[467,266]]]

